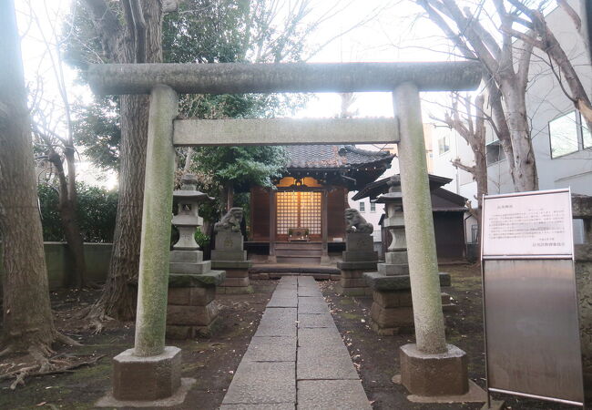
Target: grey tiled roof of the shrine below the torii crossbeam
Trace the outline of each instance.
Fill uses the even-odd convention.
[[[288,169],[350,169],[394,158],[387,151],[358,149],[351,145],[291,145]]]

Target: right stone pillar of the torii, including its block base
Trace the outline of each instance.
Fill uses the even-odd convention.
[[[468,392],[466,354],[446,344],[444,335],[418,88],[413,83],[396,87],[393,106],[401,133],[399,163],[416,340],[401,347],[401,380],[413,395],[463,395]]]

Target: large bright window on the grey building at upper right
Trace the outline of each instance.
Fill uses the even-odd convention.
[[[592,134],[577,111],[571,111],[549,122],[551,158],[563,157],[580,149],[592,148]]]

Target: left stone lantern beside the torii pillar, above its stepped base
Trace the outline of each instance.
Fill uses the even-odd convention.
[[[181,189],[173,191],[173,200],[177,203],[177,215],[173,217],[173,225],[179,230],[179,241],[175,243],[175,251],[199,251],[195,241],[195,232],[203,225],[199,216],[199,202],[209,199],[208,195],[197,190],[198,179],[195,175],[186,174],[181,178]]]

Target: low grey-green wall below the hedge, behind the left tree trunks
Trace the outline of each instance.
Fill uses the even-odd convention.
[[[49,290],[64,288],[74,282],[72,266],[67,258],[67,244],[65,242],[44,242],[44,248]],[[88,281],[105,282],[112,248],[112,243],[85,243]],[[3,247],[0,246],[0,277],[4,274],[2,250]]]

